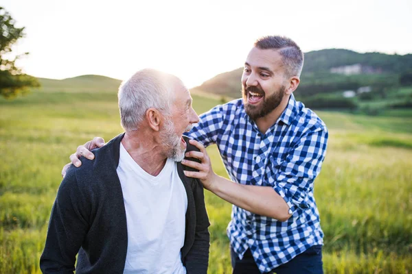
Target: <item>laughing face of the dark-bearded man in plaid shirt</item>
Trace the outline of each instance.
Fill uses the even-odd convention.
[[[251,119],[273,112],[284,99],[286,84],[282,56],[274,49],[253,47],[242,75],[244,109]]]

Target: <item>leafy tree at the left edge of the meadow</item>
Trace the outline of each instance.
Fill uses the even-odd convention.
[[[40,86],[35,77],[23,73],[15,65],[16,60],[28,53],[10,58],[12,45],[25,36],[24,27],[15,27],[14,24],[12,16],[0,7],[0,95],[5,98],[16,97],[26,93],[30,87]]]

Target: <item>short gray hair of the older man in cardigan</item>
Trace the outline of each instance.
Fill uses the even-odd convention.
[[[170,116],[176,82],[180,82],[178,77],[155,69],[137,71],[122,82],[117,97],[124,130],[137,130],[149,108]]]

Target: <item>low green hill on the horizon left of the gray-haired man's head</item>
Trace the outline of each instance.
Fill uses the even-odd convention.
[[[100,75],[82,75],[62,80],[38,78],[44,92],[117,92],[122,81]]]

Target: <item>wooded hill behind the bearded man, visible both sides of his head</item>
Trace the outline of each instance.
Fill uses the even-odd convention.
[[[333,68],[358,64],[371,73],[343,75],[331,73]],[[345,68],[343,68],[345,69]],[[221,96],[240,97],[243,69],[219,74],[196,90]],[[323,49],[305,53],[301,84],[295,95],[305,97],[323,92],[356,90],[361,86],[395,86],[402,73],[412,71],[412,54],[389,55],[384,53],[357,53],[347,49]]]

